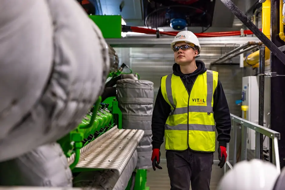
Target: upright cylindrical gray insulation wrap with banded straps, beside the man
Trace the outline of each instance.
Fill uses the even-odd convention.
[[[150,168],[152,166],[153,82],[122,79],[117,81],[117,90],[119,108],[122,111],[122,128],[144,130],[144,137],[137,147],[136,168]]]

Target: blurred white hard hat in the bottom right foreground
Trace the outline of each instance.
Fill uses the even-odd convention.
[[[276,166],[270,162],[242,161],[226,173],[217,190],[272,190],[278,175]]]

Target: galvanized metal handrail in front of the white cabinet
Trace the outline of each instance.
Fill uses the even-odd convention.
[[[246,137],[247,137],[247,130],[246,128],[250,128],[255,131],[255,155],[256,158],[260,159],[260,134],[263,134],[269,138],[271,138],[272,141],[272,163],[276,165],[278,172],[280,172],[280,158],[279,158],[279,149],[278,149],[278,140],[280,139],[280,133],[273,131],[269,128],[263,127],[261,125],[258,125],[256,123],[247,121],[243,118],[240,118],[236,115],[230,114],[231,121],[233,124],[233,136],[234,136],[234,150],[233,150],[233,165],[236,164],[236,134],[237,134],[237,123],[241,125],[241,160],[246,160]],[[263,146],[263,145],[262,145]],[[231,165],[229,161],[229,146],[227,146],[227,153],[228,157],[226,159],[226,165],[229,166],[230,169],[233,168],[233,165]],[[226,173],[226,167],[224,167],[224,173]]]

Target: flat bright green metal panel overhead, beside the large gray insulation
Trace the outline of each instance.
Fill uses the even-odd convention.
[[[89,15],[89,18],[100,28],[104,38],[121,38],[121,15]]]

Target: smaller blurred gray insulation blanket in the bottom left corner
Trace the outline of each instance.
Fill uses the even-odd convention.
[[[0,185],[72,187],[72,172],[58,143],[0,163]]]

